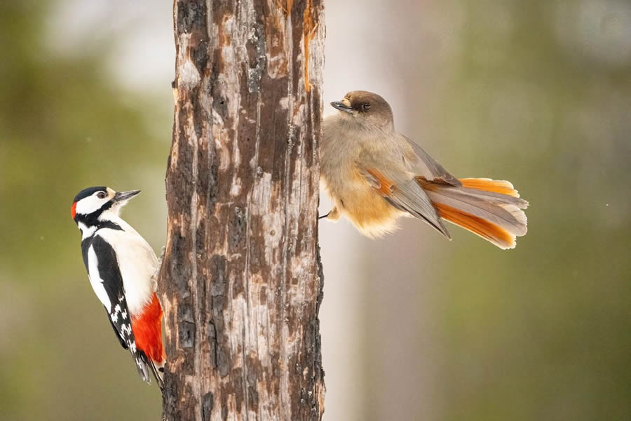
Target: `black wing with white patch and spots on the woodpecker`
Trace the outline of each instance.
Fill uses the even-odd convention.
[[[142,380],[151,382],[147,357],[142,351],[136,349],[131,316],[125,301],[123,277],[118,268],[114,248],[101,236],[95,234],[81,243],[81,251],[92,288],[105,307],[118,341],[121,342],[123,348],[129,349]]]

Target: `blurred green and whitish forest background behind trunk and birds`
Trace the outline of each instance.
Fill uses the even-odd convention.
[[[159,419],[69,206],[140,188],[125,219],[163,246],[171,16],[0,3],[1,421]],[[326,20],[326,103],[380,93],[453,173],[512,180],[531,208],[510,251],[320,224],[325,420],[630,419],[631,2],[327,1]]]

